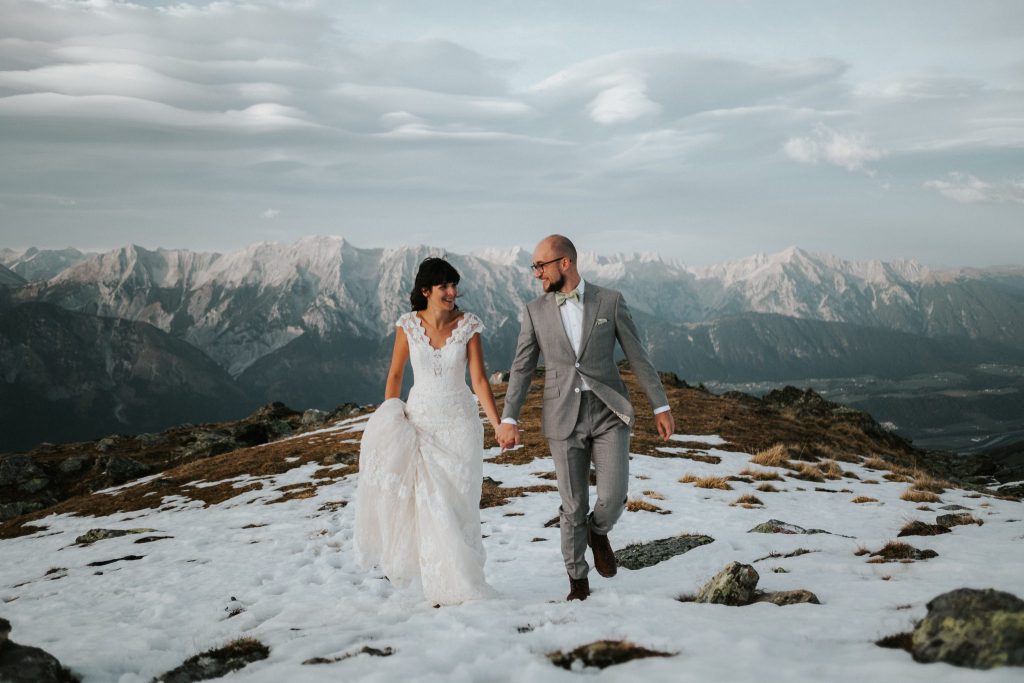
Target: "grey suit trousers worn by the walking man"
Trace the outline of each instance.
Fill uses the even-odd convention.
[[[630,428],[592,391],[584,391],[575,428],[566,439],[548,439],[561,496],[562,558],[572,579],[590,571],[585,557],[588,527],[607,535],[626,507]],[[590,511],[590,466],[597,473],[597,501]]]

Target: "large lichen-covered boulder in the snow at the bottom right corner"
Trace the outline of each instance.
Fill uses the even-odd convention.
[[[1024,666],[1024,600],[992,589],[943,593],[913,630],[913,658],[972,669]]]

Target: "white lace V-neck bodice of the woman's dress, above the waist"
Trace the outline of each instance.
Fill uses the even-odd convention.
[[[444,345],[434,348],[416,311],[403,314],[395,323],[409,339],[409,357],[413,364],[413,386],[418,392],[460,391],[466,385],[466,346],[473,335],[483,331],[483,322],[465,313]]]

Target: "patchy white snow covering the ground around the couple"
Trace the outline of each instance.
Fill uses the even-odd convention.
[[[696,488],[678,479],[687,473],[735,474],[750,457],[717,450],[720,441],[707,436],[677,438],[709,444],[707,453],[720,456],[721,464],[634,456],[631,497],[656,492],[664,500],[646,500],[671,514],[626,512],[612,544],[620,548],[688,532],[708,533],[715,542],[646,569],[621,569],[614,579],[592,572],[594,594],[585,602],[564,601],[568,582],[558,529],[544,526],[557,514],[557,494],[529,494],[481,511],[487,579],[501,597],[434,609],[379,573],[359,569],[351,545],[352,505],[322,509],[329,502],[352,501],[357,475],[322,486],[313,498],[262,504],[280,497],[274,487],[309,480],[318,468],[310,464],[272,477],[272,486],[209,508],[176,497],[165,500],[170,509],[163,511],[98,519],[51,516],[40,522],[49,527],[45,531],[0,541],[0,615],[14,627],[12,640],[46,649],[86,682],[148,681],[240,636],[267,644],[270,656],[229,680],[532,682],[581,675],[607,681],[1021,680],[1020,669],[920,665],[906,652],[873,643],[910,630],[928,600],[947,590],[995,588],[1024,597],[1024,506],[950,489],[942,503],[932,504],[936,512],[919,511],[918,504],[899,499],[907,484],[848,463],[843,467],[862,480],[815,484],[786,477],[773,482],[784,489],[780,493],[755,492],[757,482],[732,482],[733,490]],[[536,474],[551,469],[546,460],[484,463],[484,475],[504,486],[550,483]],[[816,486],[852,493],[816,492]],[[744,493],[756,494],[764,508],[728,505]],[[879,502],[853,504],[857,496]],[[866,556],[854,555],[859,547],[878,550],[908,520],[934,521],[939,506],[948,504],[967,506],[984,525],[903,539],[937,551],[937,558],[869,564]],[[835,536],[748,532],[769,518]],[[139,536],[132,535],[72,545],[95,527],[152,527],[159,533],[150,536],[173,538],[136,545]],[[675,599],[695,592],[730,561],[750,563],[798,548],[815,552],[757,562],[759,587],[805,588],[820,605],[727,607]],[[129,555],[144,557],[87,566]],[[57,567],[63,569],[46,575]],[[774,572],[777,567],[786,572]],[[244,611],[229,617],[239,606]],[[558,669],[545,656],[600,639],[627,639],[677,654],[582,674]],[[367,645],[391,647],[394,653],[302,665]]]

